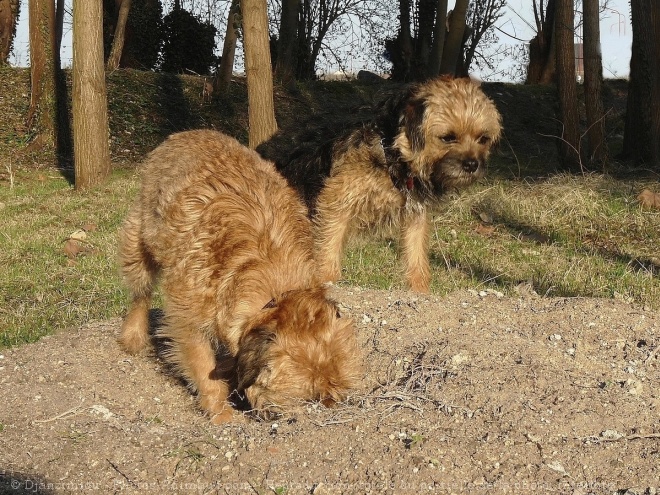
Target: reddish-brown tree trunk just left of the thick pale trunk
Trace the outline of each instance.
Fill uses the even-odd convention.
[[[32,145],[57,153],[57,68],[55,0],[28,3],[30,29],[30,108],[26,126],[36,131]]]

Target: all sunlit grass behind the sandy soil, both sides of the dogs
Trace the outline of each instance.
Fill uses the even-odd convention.
[[[531,284],[541,295],[660,307],[660,212],[640,209],[644,187],[660,183],[556,175],[480,184],[434,217],[432,290],[513,293]],[[16,173],[13,187],[0,182],[0,347],[123,314],[117,232],[137,188],[127,170],[84,193],[48,170]],[[88,252],[69,258],[64,243],[83,227]],[[399,261],[392,237],[360,237],[342,283],[404,288]]]

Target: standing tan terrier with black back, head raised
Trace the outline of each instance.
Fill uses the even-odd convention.
[[[278,170],[307,203],[323,281],[341,276],[351,228],[394,226],[410,288],[428,292],[428,210],[484,175],[500,114],[470,79],[436,78],[382,102],[374,118],[301,146]]]

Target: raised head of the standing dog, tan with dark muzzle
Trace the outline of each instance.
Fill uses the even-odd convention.
[[[429,192],[439,195],[483,177],[502,127],[477,84],[441,77],[413,86],[399,112],[394,147]]]

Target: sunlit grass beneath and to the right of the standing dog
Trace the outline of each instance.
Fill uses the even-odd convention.
[[[660,212],[636,195],[658,182],[603,175],[494,179],[444,205],[434,217],[432,290],[512,293],[531,284],[542,295],[616,297],[660,306]],[[483,222],[485,218],[489,223]],[[396,242],[353,243],[343,283],[403,288]]]

